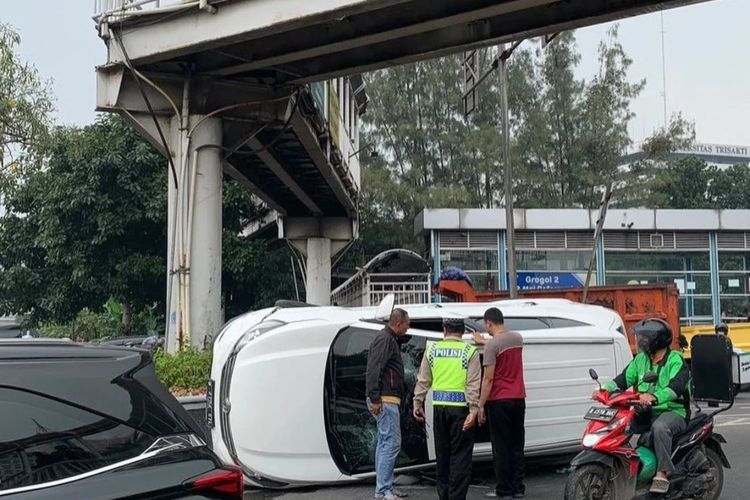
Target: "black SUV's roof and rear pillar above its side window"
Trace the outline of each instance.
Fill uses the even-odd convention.
[[[34,392],[106,415],[152,435],[201,429],[158,381],[142,349],[62,339],[0,342],[3,387]]]

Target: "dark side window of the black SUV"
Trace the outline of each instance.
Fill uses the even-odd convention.
[[[141,454],[154,439],[80,408],[0,388],[0,492],[77,476]]]

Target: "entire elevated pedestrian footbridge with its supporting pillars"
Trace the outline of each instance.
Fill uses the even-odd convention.
[[[222,174],[279,215],[307,300],[328,302],[357,236],[363,72],[698,2],[96,0],[97,108],[170,159],[170,331],[223,323]]]

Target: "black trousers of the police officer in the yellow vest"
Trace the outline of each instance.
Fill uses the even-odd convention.
[[[474,428],[463,430],[469,409],[433,406],[437,489],[440,500],[465,500],[471,480]]]

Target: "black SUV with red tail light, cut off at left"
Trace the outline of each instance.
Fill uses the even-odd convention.
[[[0,341],[0,498],[242,498],[139,349]]]

